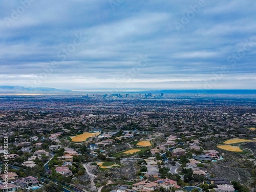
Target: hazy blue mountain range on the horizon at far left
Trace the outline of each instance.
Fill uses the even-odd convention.
[[[22,87],[22,86],[0,86],[0,93],[2,94],[22,94],[22,93],[27,93],[27,94],[61,94],[61,93],[72,93],[71,90],[60,90],[60,89],[55,89],[55,88],[45,88],[45,87]]]

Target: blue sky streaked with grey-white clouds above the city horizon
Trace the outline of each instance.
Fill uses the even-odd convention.
[[[256,89],[256,1],[0,1],[0,85]]]

